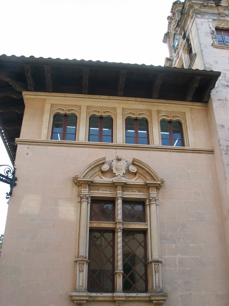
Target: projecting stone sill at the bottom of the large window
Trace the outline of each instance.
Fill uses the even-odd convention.
[[[152,293],[91,293],[91,292],[71,292],[70,299],[76,301],[157,301],[162,305],[168,294],[164,292]]]

